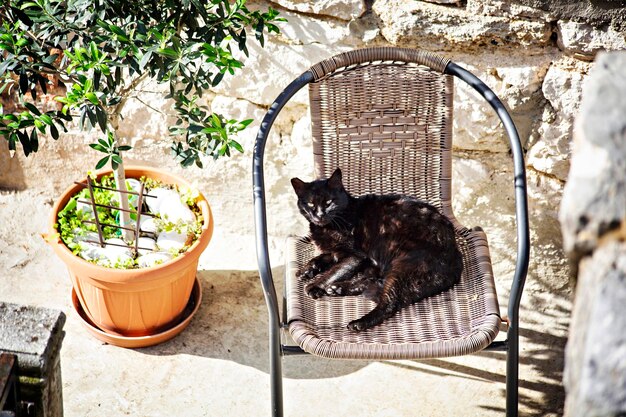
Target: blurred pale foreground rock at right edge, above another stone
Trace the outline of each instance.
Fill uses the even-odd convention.
[[[626,225],[626,52],[598,55],[576,119],[561,202],[563,243],[574,260]]]

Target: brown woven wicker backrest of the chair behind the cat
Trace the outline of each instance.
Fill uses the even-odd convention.
[[[412,195],[450,209],[453,77],[423,51],[375,48],[315,65],[315,175],[335,168],[354,195]]]

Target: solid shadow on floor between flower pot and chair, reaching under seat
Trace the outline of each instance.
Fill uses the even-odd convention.
[[[274,271],[275,278],[281,276],[282,269]],[[168,342],[138,351],[229,360],[269,373],[268,315],[258,273],[199,271],[198,278],[203,300],[187,329]],[[293,362],[297,366],[290,366]],[[288,357],[283,375],[294,379],[334,378],[353,373],[368,363]]]

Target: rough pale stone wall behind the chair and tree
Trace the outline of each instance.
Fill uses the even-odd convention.
[[[253,7],[271,5],[288,22],[264,49],[253,45],[250,56],[244,57],[244,70],[222,83],[210,98],[218,112],[256,120],[241,135],[246,153],[209,161],[204,171],[190,169],[184,175],[197,180],[219,206],[215,209],[220,230],[249,237],[246,244],[251,243],[253,225],[246,209],[250,208],[253,139],[268,105],[289,81],[321,59],[358,47],[397,45],[444,53],[481,77],[510,109],[527,149],[535,271],[550,277],[549,287],[562,288],[566,272],[556,212],[569,170],[572,120],[592,66],[589,61],[600,49],[626,45],[621,15],[616,12],[620,2],[605,3],[604,8],[589,6],[593,10],[585,13],[540,1],[257,1]],[[145,90],[144,101],[167,113],[170,103],[159,93],[162,89],[146,86]],[[283,213],[272,225],[279,239],[299,223],[293,207],[284,204],[287,199],[280,198],[291,196],[288,179],[311,173],[306,100],[302,93],[286,108],[269,147],[268,183],[277,197],[271,204]],[[455,100],[455,208],[468,223],[489,227],[504,222],[508,227],[510,164],[498,119],[467,88],[459,88]],[[170,121],[167,115],[132,102],[121,132],[135,147],[127,160],[182,172],[169,158],[169,141],[163,140]],[[99,155],[85,146],[93,137],[74,130],[58,142],[43,140],[42,150],[29,158],[9,158],[3,143],[0,188],[58,192],[67,185],[69,172],[79,177],[94,166]],[[508,252],[509,235],[507,231],[495,238],[496,251],[499,241],[507,241],[502,250]],[[250,264],[253,259],[246,262]],[[503,266],[502,272],[509,270],[510,265]]]

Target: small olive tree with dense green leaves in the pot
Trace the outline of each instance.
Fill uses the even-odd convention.
[[[122,110],[152,80],[168,86],[171,150],[183,166],[241,152],[233,134],[251,120],[226,119],[200,98],[242,66],[233,52],[248,54],[249,34],[263,46],[281,20],[245,0],[3,0],[0,93],[17,96],[21,108],[3,112],[0,136],[11,152],[21,147],[28,156],[40,134],[58,139],[68,122],[99,129],[102,137],[89,145],[104,154],[96,168],[110,163],[125,190],[122,152],[130,146],[117,133]],[[46,94],[51,75],[66,93],[55,98],[59,108],[46,110],[37,94]]]

